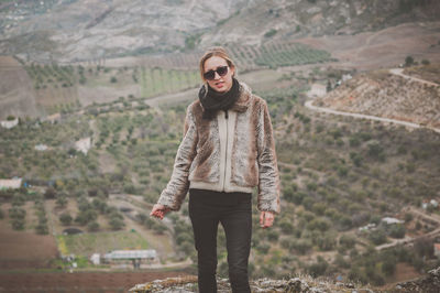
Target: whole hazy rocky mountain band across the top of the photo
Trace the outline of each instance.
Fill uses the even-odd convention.
[[[45,1],[47,8],[38,8],[35,14],[28,2],[1,10],[0,54],[65,62],[190,50],[198,43],[258,45],[310,34],[352,34],[416,19],[438,20],[440,9],[435,0],[410,4],[399,0],[64,0]],[[36,42],[22,41],[35,34]]]

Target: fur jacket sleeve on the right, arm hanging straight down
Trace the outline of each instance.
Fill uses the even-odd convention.
[[[257,208],[279,213],[279,174],[275,140],[267,104],[263,100],[257,126],[258,197]]]

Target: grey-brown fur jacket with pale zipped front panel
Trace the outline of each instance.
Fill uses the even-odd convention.
[[[257,208],[279,213],[279,175],[267,104],[240,83],[228,111],[202,119],[199,100],[188,106],[173,175],[157,204],[178,210],[189,188],[252,193]]]

